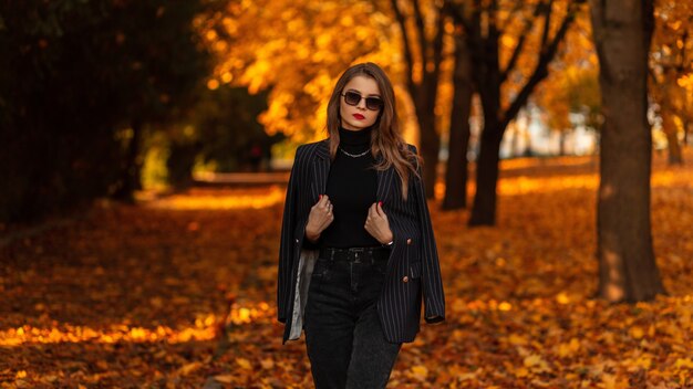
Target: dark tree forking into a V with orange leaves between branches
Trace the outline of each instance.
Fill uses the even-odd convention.
[[[582,3],[582,0],[447,2],[447,12],[463,28],[467,39],[474,66],[474,83],[484,116],[477,159],[476,195],[469,225],[495,224],[503,136],[532,91],[548,75],[548,65],[556,56],[559,44]],[[513,33],[508,34],[509,31]],[[504,39],[514,42],[514,49],[507,59],[500,56]],[[532,44],[535,50],[526,50]],[[527,52],[534,59],[534,64],[518,66],[520,57]],[[524,82],[514,82],[516,77],[521,77]],[[504,102],[503,91],[510,84],[514,85],[514,91],[506,94],[509,98]]]

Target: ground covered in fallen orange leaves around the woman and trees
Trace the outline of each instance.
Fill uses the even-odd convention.
[[[447,322],[403,346],[390,387],[693,387],[693,168],[663,159],[669,296],[634,306],[592,298],[594,160],[504,162],[496,228],[432,201]],[[3,227],[0,387],[310,387],[303,340],[282,346],[275,319],[283,193],[195,189]]]

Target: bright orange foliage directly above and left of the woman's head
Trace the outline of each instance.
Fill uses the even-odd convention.
[[[351,64],[375,61],[393,71],[391,20],[369,1],[234,1],[200,20],[198,29],[218,59],[208,86],[267,91],[259,116],[268,135],[292,143],[322,139],[327,102]],[[259,28],[261,27],[261,28]],[[390,73],[390,72],[389,72]]]

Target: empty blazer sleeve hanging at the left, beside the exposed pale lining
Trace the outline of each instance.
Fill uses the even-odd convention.
[[[277,272],[277,319],[287,322],[287,302],[291,294],[291,267],[293,263],[293,231],[297,223],[298,212],[298,185],[299,185],[299,161],[302,155],[302,146],[296,150],[293,166],[289,176],[287,197],[283,206],[283,217],[281,222],[281,240],[279,243],[279,270]]]

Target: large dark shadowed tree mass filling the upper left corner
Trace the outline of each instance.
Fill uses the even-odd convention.
[[[138,134],[207,73],[201,2],[0,2],[0,219],[27,220],[136,182]]]

